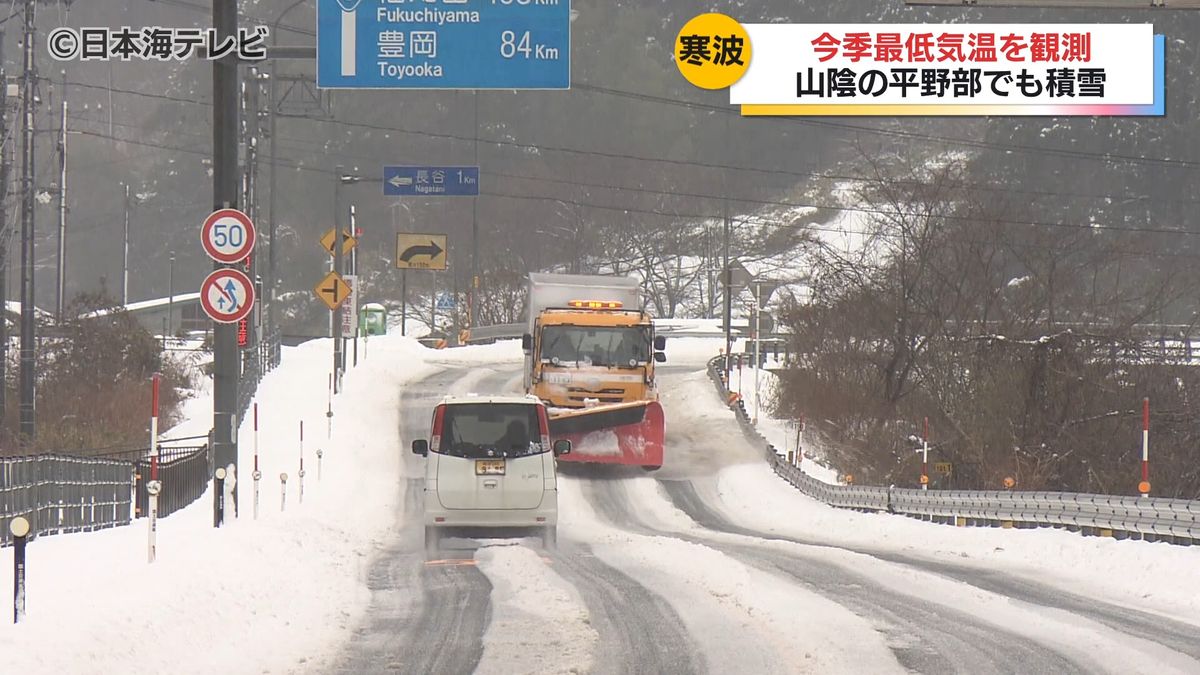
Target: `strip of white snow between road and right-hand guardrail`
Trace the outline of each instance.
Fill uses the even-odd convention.
[[[752,387],[752,371],[750,377]],[[668,438],[673,429],[688,430],[674,437],[671,453],[697,455],[701,448],[740,438],[733,413],[721,405],[707,377],[688,375],[674,378],[671,387],[673,398],[684,405],[665,405]],[[762,408],[758,424],[760,429],[764,425]],[[1200,589],[1200,546],[1088,538],[1051,528],[952,527],[836,509],[804,496],[761,461],[740,455],[727,460],[716,471],[712,500],[724,506],[732,521],[767,536],[977,566],[1200,623],[1200,593],[1195,592]],[[806,470],[815,466],[804,465]]]

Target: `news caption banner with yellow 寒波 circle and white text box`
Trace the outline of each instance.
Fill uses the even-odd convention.
[[[743,115],[1165,114],[1165,38],[1152,24],[739,24],[709,13],[679,30],[674,56],[696,86],[728,86]]]

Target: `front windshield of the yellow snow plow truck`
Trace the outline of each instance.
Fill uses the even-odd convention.
[[[641,325],[547,325],[541,333],[541,359],[554,365],[637,366],[650,359],[650,331]]]

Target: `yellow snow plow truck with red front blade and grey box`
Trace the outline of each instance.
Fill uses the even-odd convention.
[[[666,338],[641,303],[636,279],[529,275],[524,389],[547,406],[559,461],[662,466],[664,418],[654,364]]]

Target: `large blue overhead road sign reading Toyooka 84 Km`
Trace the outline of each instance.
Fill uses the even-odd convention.
[[[570,89],[570,0],[317,0],[323,89]]]

